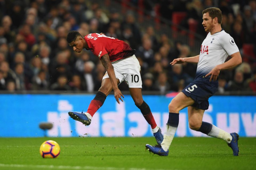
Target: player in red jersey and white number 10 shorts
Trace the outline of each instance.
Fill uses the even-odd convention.
[[[135,105],[141,110],[146,121],[151,125],[154,137],[158,144],[163,141],[161,129],[155,123],[149,106],[142,98],[142,80],[139,61],[135,57],[135,50],[127,43],[103,33],[90,33],[83,37],[78,31],[70,31],[67,42],[77,53],[83,48],[91,50],[102,62],[107,72],[102,78],[101,87],[87,109],[86,113],[69,112],[69,116],[85,125],[90,125],[94,113],[103,105],[107,95],[114,90],[117,102],[123,101],[123,94],[118,84],[126,81]]]

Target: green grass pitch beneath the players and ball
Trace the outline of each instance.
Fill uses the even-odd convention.
[[[54,140],[61,153],[56,159],[43,159],[41,143]],[[174,138],[169,156],[150,154],[148,138],[0,138],[0,169],[256,169],[256,138],[240,138],[239,156],[215,138]]]

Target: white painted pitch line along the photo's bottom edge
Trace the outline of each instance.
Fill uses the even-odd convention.
[[[0,164],[0,167],[8,168],[47,168],[47,169],[92,169],[92,170],[153,170],[146,168],[114,168],[114,167],[90,167],[90,166],[56,166],[56,165],[21,165],[21,164]],[[166,169],[154,169],[154,170],[166,170]],[[172,169],[178,170],[178,169]]]

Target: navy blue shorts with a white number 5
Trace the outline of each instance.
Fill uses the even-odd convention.
[[[218,81],[209,81],[209,78],[198,78],[193,80],[182,92],[191,97],[195,103],[191,106],[198,109],[207,110],[209,107],[209,97],[218,90]]]

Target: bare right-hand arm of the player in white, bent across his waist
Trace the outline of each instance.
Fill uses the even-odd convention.
[[[240,52],[231,54],[230,57],[231,57],[231,59],[229,61],[215,66],[208,74],[205,75],[205,77],[211,75],[210,81],[211,80],[215,81],[215,80],[217,80],[219,72],[221,70],[230,69],[230,68],[238,66],[239,64],[242,63],[242,57],[241,57]]]

